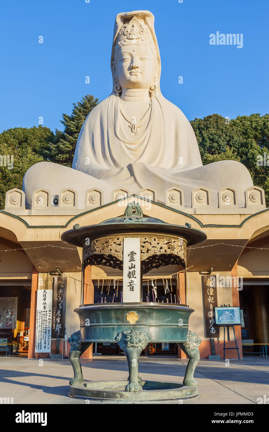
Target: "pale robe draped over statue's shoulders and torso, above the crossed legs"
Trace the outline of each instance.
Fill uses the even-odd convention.
[[[73,168],[122,187],[134,182],[149,187],[152,174],[178,183],[180,172],[202,166],[189,121],[163,96],[152,98],[149,123],[133,140],[125,133],[128,123],[119,104],[120,98],[110,95],[88,115],[79,134]]]

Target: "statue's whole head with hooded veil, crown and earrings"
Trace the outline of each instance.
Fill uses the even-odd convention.
[[[113,90],[159,90],[160,57],[154,32],[154,16],[148,11],[118,14],[111,55]]]

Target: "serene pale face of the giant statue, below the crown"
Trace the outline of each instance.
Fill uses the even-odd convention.
[[[113,62],[114,63],[114,62]],[[146,45],[125,45],[119,48],[115,75],[122,89],[149,89],[155,73],[152,50]]]

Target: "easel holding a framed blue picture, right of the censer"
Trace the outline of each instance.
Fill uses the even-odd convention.
[[[223,305],[220,307],[216,307],[215,308],[215,320],[216,320],[216,325],[218,325],[219,327],[223,327],[223,332],[224,332],[223,359],[225,360],[225,350],[226,349],[237,349],[237,357],[238,357],[238,360],[240,360],[239,348],[237,346],[237,340],[236,340],[235,331],[234,331],[235,325],[241,325],[239,306]],[[234,348],[226,348],[225,347],[225,327],[227,327],[227,340],[230,340],[229,327],[233,327],[234,341],[235,341],[235,346],[236,346]]]

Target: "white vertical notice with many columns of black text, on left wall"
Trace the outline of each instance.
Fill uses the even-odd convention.
[[[52,292],[52,289],[37,291],[35,353],[51,352]]]

